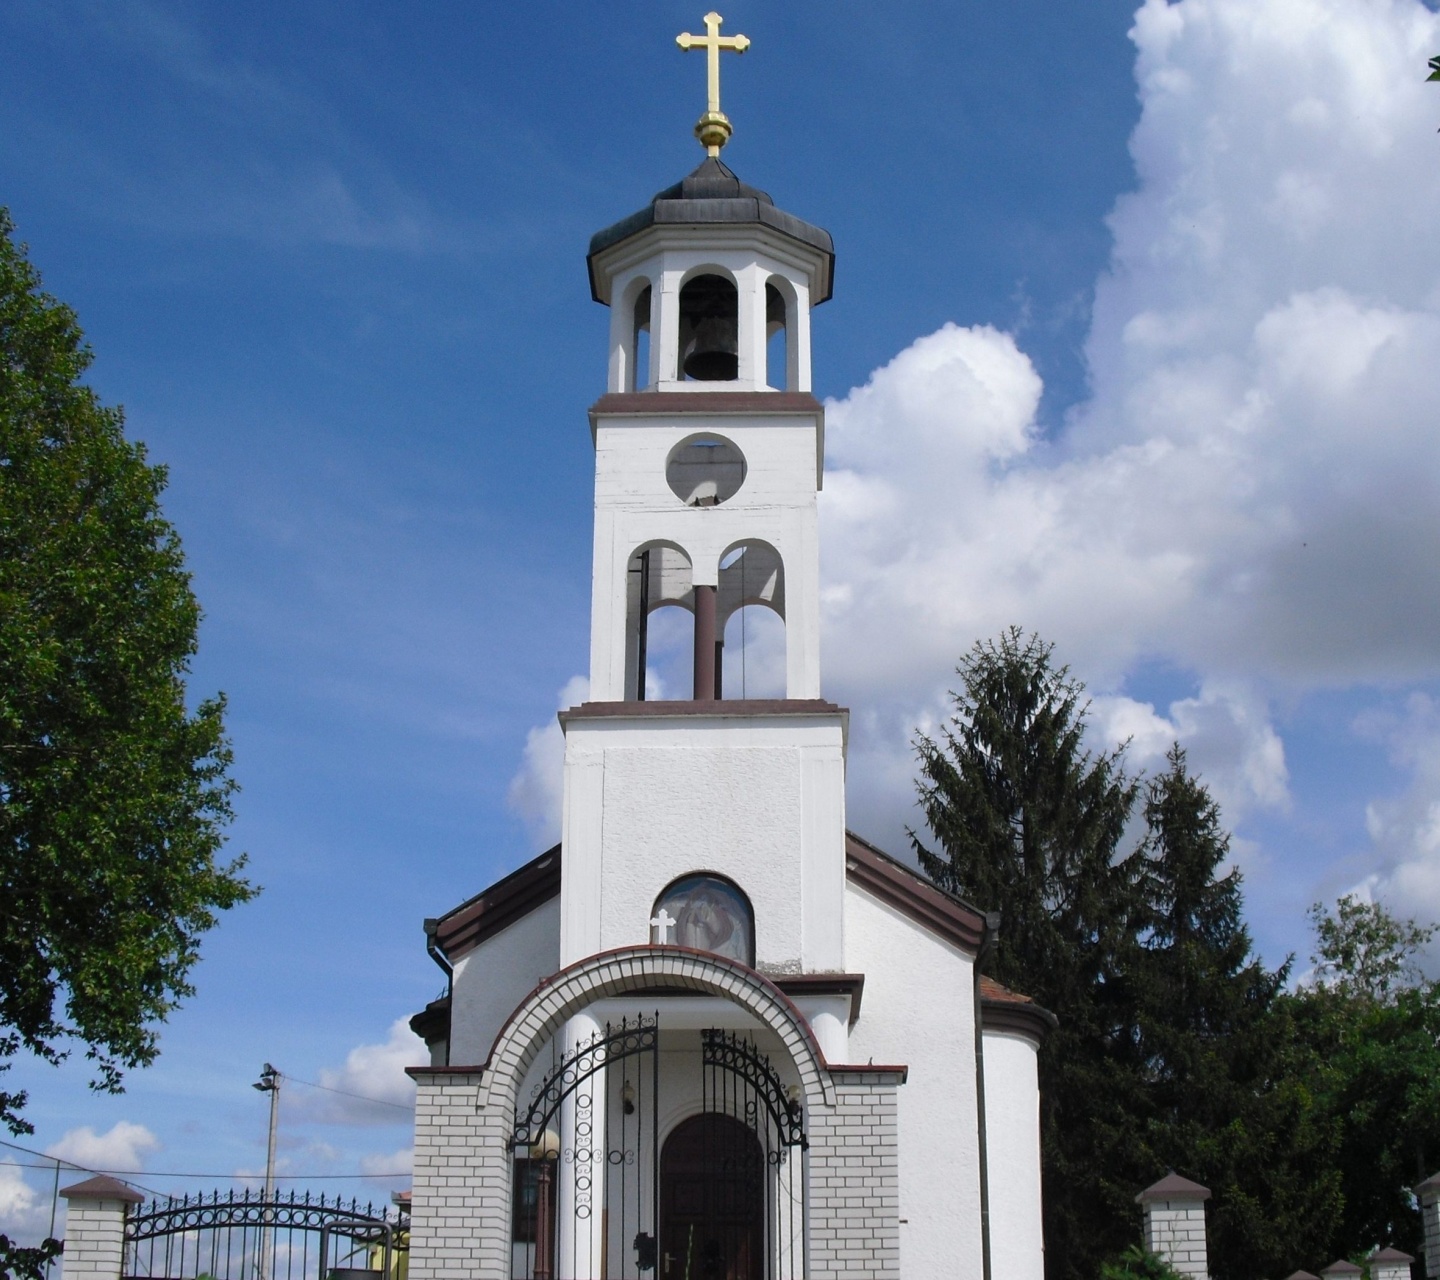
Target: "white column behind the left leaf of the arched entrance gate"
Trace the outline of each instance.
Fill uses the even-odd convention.
[[[603,1028],[590,1014],[564,1024],[564,1057]],[[560,1169],[556,1188],[559,1280],[599,1280],[605,1248],[605,1067],[560,1103]]]

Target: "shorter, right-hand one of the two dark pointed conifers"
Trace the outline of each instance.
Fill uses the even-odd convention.
[[[1145,785],[1145,824],[1149,919],[1130,966],[1145,1160],[1211,1188],[1212,1274],[1282,1274],[1341,1205],[1333,1127],[1280,1002],[1289,962],[1254,956],[1220,806],[1178,744]]]

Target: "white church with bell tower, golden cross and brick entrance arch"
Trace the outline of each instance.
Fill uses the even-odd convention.
[[[845,828],[811,392],[834,246],[720,161],[749,43],[720,24],[680,37],[706,160],[590,240],[589,701],[560,713],[560,844],[426,921],[449,993],[412,1022],[410,1277],[1043,1280],[1054,1019],[981,976],[995,917]],[[647,697],[665,606],[684,700]],[[783,622],[783,697],[721,687],[747,606]]]

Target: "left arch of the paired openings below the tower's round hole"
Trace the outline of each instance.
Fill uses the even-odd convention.
[[[629,559],[625,610],[625,697],[684,697],[693,646],[690,557],[672,543],[647,543]]]

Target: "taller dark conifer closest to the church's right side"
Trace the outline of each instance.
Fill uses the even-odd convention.
[[[1045,1258],[1093,1277],[1135,1235],[1133,993],[1122,968],[1136,927],[1135,857],[1120,841],[1136,783],[1122,750],[1084,746],[1083,685],[1053,645],[1018,628],[962,659],[953,716],[916,750],[912,832],[940,885],[1001,913],[992,975],[1061,1014],[1040,1055]]]

